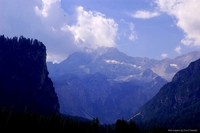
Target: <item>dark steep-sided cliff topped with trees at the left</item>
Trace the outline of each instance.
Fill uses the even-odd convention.
[[[43,43],[0,36],[0,106],[42,114],[59,111]]]

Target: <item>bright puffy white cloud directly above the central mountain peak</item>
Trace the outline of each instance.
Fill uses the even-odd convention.
[[[62,27],[63,31],[71,31],[77,45],[97,48],[100,46],[115,47],[118,25],[113,19],[96,11],[85,11],[83,7],[76,8],[77,23]]]

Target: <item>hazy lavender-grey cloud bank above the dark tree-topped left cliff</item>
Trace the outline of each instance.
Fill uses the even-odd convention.
[[[64,13],[60,1],[0,0],[0,34],[37,39],[47,48],[47,60],[60,62],[78,49],[72,34],[59,30]]]

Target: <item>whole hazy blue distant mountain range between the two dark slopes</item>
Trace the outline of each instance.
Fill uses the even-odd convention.
[[[47,62],[47,66],[61,113],[114,123],[130,118],[176,72],[198,58],[200,52],[154,60],[101,47],[75,52],[60,64]]]

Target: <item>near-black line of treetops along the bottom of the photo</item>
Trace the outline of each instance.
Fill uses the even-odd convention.
[[[24,112],[14,112],[0,107],[0,130],[11,132],[56,132],[56,133],[164,133],[166,129],[153,127],[148,130],[140,129],[133,122],[118,119],[115,124],[100,124],[98,118],[87,120],[79,117],[63,116],[55,113],[49,116]]]

